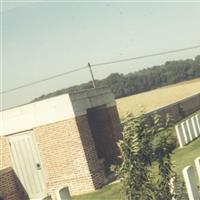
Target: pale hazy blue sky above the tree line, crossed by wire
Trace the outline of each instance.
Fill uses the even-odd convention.
[[[27,1],[28,2],[28,1]],[[200,44],[200,2],[3,3],[2,89],[85,66]],[[95,78],[128,73],[200,50],[94,69]],[[81,71],[3,95],[3,107],[90,80]]]

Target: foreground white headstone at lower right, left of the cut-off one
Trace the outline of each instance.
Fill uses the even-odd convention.
[[[192,166],[183,169],[183,177],[185,180],[188,197],[190,200],[200,200],[197,183]]]

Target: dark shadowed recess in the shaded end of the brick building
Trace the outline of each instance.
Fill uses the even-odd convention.
[[[88,120],[99,159],[105,159],[106,171],[118,162],[117,141],[122,138],[116,106],[88,110]]]

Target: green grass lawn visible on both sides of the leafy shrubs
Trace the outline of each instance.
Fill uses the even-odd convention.
[[[182,149],[173,152],[172,159],[175,161],[175,170],[182,176],[182,170],[187,165],[194,166],[194,159],[200,156],[200,138],[193,141]],[[72,200],[123,200],[120,196],[120,183],[111,184],[104,188],[85,195],[74,196]]]

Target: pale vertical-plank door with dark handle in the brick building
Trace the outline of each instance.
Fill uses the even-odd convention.
[[[43,170],[32,131],[9,137],[10,151],[16,175],[29,198],[40,198],[46,193]]]

